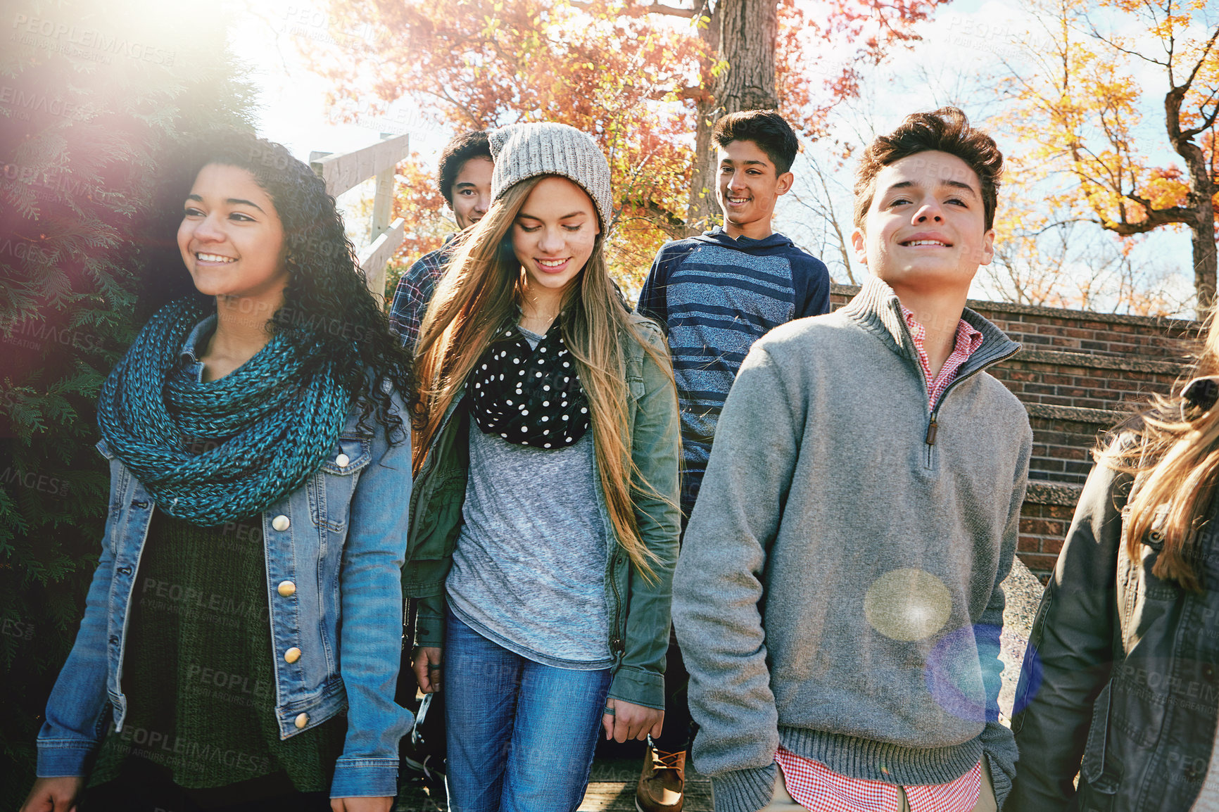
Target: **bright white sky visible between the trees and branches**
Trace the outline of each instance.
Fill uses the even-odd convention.
[[[295,37],[323,41],[332,37],[329,21],[319,5],[302,0],[236,0],[230,9],[230,44],[249,66],[247,78],[258,88],[258,132],[284,144],[301,160],[307,161],[315,150],[355,150],[374,143],[382,133],[407,133],[411,150],[433,163],[452,135],[430,121],[425,111],[411,100],[400,100],[384,116],[366,113],[354,123],[332,121],[325,109],[328,83],[308,69],[294,45]],[[922,41],[895,51],[884,66],[868,76],[862,99],[835,110],[836,121],[831,128],[835,137],[865,143],[874,133],[895,127],[907,112],[950,101],[961,104],[975,121],[993,115],[1000,109],[995,80],[1006,72],[1004,62],[1019,65],[1025,59],[1025,46],[1037,48],[1037,38],[1026,33],[1031,24],[1031,18],[1009,2],[958,0],[941,6],[933,20],[918,26]],[[355,30],[351,37],[360,38],[362,33]],[[829,51],[819,48],[808,69],[833,73],[836,66],[851,57],[853,50],[850,43]],[[1163,84],[1162,76],[1154,73],[1152,66],[1139,66],[1139,71],[1147,91],[1159,98],[1164,90],[1159,87]],[[1006,133],[996,132],[993,135],[1004,152],[1020,150],[1022,145]],[[1153,154],[1153,157],[1173,162],[1175,156],[1168,154],[1165,141],[1162,124],[1158,132],[1148,129],[1147,138],[1142,139],[1148,145],[1162,144],[1160,152]],[[806,145],[805,154],[824,163],[829,146]],[[1180,165],[1179,160],[1175,162]],[[800,202],[801,198],[806,201],[812,198],[812,178],[807,172],[800,177],[798,160],[796,171],[796,188],[794,194],[781,200],[775,227],[789,233],[801,246],[823,255],[835,280],[846,282],[847,274],[837,258],[836,246],[826,244],[825,223]],[[830,180],[835,206],[840,212],[850,211],[850,172],[840,169]],[[349,219],[355,216],[350,206],[369,195],[371,185],[366,185],[340,198],[340,207],[349,207]],[[352,232],[356,229],[352,228]],[[1191,266],[1189,234],[1182,229],[1143,238],[1137,241],[1131,256],[1167,272],[1176,268],[1187,271]],[[864,273],[857,266],[852,272],[857,279]],[[1178,276],[1178,288],[1187,291],[1192,285],[1191,274]],[[989,294],[992,291],[986,289],[984,274],[979,274],[973,295],[987,297]]]

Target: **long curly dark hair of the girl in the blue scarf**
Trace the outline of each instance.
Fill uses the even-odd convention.
[[[218,130],[191,140],[163,161],[156,202],[138,228],[140,323],[183,296],[213,301],[195,289],[177,245],[183,201],[199,171],[210,163],[250,172],[283,223],[290,273],[271,329],[305,350],[306,374],[310,367],[335,362],[340,382],[355,393],[361,429],[369,430],[368,419],[375,417],[386,440],[400,441],[406,426],[383,382],[403,402],[410,401],[411,357],[391,335],[384,311],[368,290],[325,183],[282,144],[252,133]]]

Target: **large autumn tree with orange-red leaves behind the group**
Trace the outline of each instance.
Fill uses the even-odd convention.
[[[413,99],[457,130],[552,119],[591,133],[613,174],[616,271],[633,287],[661,243],[707,224],[724,111],[778,105],[820,134],[820,113],[857,91],[855,66],[913,38],[934,5],[837,0],[814,20],[795,0],[329,0],[333,41],[297,45],[333,83],[340,118],[373,94]],[[823,68],[819,46],[844,41],[858,59]],[[399,215],[418,205],[406,202]]]

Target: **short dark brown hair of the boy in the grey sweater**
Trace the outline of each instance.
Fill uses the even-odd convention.
[[[983,213],[990,230],[995,226],[998,183],[1003,177],[1003,154],[995,139],[970,127],[969,118],[957,107],[911,113],[897,129],[868,144],[855,176],[855,224],[863,228],[880,171],[918,152],[947,152],[969,165],[981,185]]]

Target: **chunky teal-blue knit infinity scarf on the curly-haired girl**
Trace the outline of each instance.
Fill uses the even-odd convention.
[[[300,489],[339,439],[351,393],[333,365],[306,377],[305,351],[279,335],[229,374],[200,383],[179,355],[206,316],[190,299],[162,307],[106,378],[98,423],[157,507],[213,527]]]

